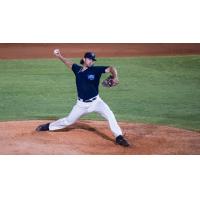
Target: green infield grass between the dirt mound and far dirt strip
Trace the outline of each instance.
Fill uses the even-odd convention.
[[[118,87],[100,86],[118,120],[200,130],[200,56],[101,58],[97,64],[118,69]],[[0,60],[1,121],[57,119],[75,100],[74,75],[60,61]]]

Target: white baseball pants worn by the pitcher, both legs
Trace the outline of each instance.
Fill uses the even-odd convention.
[[[115,137],[122,135],[121,128],[119,127],[113,112],[99,96],[97,96],[96,100],[88,103],[77,100],[77,103],[73,107],[70,114],[67,117],[50,123],[49,130],[54,131],[58,129],[63,129],[75,123],[81,116],[91,112],[99,113],[109,122],[110,129]]]

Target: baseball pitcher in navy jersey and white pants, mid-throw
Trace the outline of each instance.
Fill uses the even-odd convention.
[[[64,58],[59,49],[54,50],[54,55],[72,70],[75,75],[77,102],[67,117],[42,124],[36,128],[36,131],[63,129],[75,123],[81,116],[96,112],[108,121],[110,129],[115,136],[116,144],[128,147],[129,144],[125,140],[113,112],[99,96],[99,83],[103,73],[110,73],[110,76],[102,82],[104,87],[113,87],[119,83],[116,68],[112,66],[94,66],[96,56],[93,52],[86,52],[80,60],[80,65]]]

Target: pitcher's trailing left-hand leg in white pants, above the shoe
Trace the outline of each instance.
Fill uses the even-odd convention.
[[[75,123],[84,114],[85,114],[85,109],[79,107],[76,104],[67,117],[64,117],[62,119],[59,119],[55,122],[50,123],[49,130],[54,131],[54,130],[63,129],[63,128]]]

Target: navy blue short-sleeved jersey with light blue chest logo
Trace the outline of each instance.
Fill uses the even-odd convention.
[[[99,94],[99,81],[102,73],[105,73],[108,67],[91,66],[85,71],[82,71],[82,68],[77,64],[72,65],[72,71],[76,76],[78,97],[83,100],[88,100]]]

